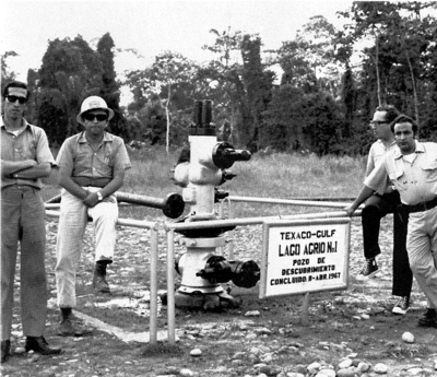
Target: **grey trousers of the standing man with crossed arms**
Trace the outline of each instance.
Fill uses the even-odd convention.
[[[39,189],[13,185],[1,190],[1,340],[11,337],[19,243],[23,334],[44,334],[47,316],[45,215]]]

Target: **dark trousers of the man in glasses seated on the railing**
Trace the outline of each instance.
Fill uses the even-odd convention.
[[[406,252],[408,215],[401,213],[399,192],[393,191],[383,196],[374,195],[367,199],[362,211],[364,256],[366,259],[375,258],[381,250],[379,248],[380,221],[388,213],[393,213],[393,287],[395,296],[410,296],[413,285],[413,273],[410,269]]]

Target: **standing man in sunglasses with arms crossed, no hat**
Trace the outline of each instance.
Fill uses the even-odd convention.
[[[2,91],[1,118],[1,363],[11,355],[11,327],[16,255],[21,250],[21,315],[25,350],[58,354],[44,338],[47,317],[46,226],[39,178],[55,160],[45,131],[23,118],[28,98],[25,83]]]

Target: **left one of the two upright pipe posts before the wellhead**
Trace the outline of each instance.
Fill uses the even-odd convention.
[[[156,225],[151,229],[151,271],[150,271],[150,343],[157,341],[157,231]]]

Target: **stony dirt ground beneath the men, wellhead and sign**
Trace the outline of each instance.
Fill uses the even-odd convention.
[[[142,341],[123,341],[82,317],[76,322],[93,326],[90,337],[62,338],[56,334],[59,321],[56,308],[55,241],[57,221],[49,220],[47,272],[50,301],[46,339],[61,346],[63,353],[45,357],[22,353],[24,338],[19,316],[19,290],[12,340],[15,354],[1,366],[2,376],[309,376],[312,363],[332,365],[350,357],[355,364],[388,367],[387,376],[437,376],[437,329],[417,327],[426,301],[416,283],[412,308],[405,316],[391,313],[391,217],[382,224],[378,258],[380,272],[367,282],[355,279],[363,264],[361,222],[353,220],[347,290],[310,295],[309,323],[302,323],[303,296],[258,298],[258,286],[250,290],[232,286],[231,294],[240,299],[237,308],[220,311],[176,309],[178,341],[150,345]],[[93,237],[85,239],[78,274],[76,311],[96,318],[126,333],[149,330],[149,251],[147,233],[119,227],[117,260],[109,269],[111,295],[94,295],[91,288]],[[260,261],[261,232],[240,227],[236,232],[236,257]],[[163,245],[163,234],[160,245]],[[166,288],[165,247],[160,251],[160,288]],[[178,280],[177,280],[178,281]],[[166,333],[167,310],[160,305],[158,330]],[[402,341],[411,332],[414,343]],[[197,355],[191,352],[198,350]],[[363,375],[365,376],[365,374]]]

